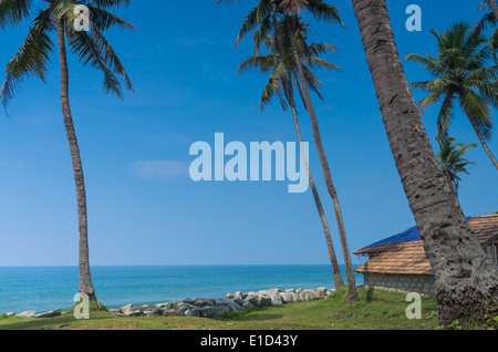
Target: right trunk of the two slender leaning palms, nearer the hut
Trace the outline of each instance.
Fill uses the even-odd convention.
[[[329,194],[334,204],[335,218],[336,218],[338,228],[339,228],[339,237],[341,239],[342,251],[343,251],[343,257],[344,257],[344,265],[345,265],[345,269],[346,269],[349,301],[350,301],[350,303],[352,303],[352,302],[357,301],[356,282],[354,280],[353,263],[351,261],[351,255],[350,255],[350,250],[349,250],[349,246],[347,246],[347,238],[345,235],[345,228],[344,228],[344,221],[342,218],[341,206],[339,204],[339,196],[335,190],[334,184],[332,182],[329,162],[326,161],[325,151],[322,145],[322,137],[320,135],[319,123],[318,123],[317,114],[314,112],[313,103],[311,101],[310,92],[308,90],[308,84],[307,84],[307,81],[304,77],[304,71],[302,69],[301,59],[298,53],[295,42],[294,42],[294,40],[292,40],[294,35],[292,32],[292,24],[290,23],[290,17],[288,14],[286,15],[286,22],[287,22],[287,31],[288,31],[289,39],[290,39],[291,46],[292,46],[292,54],[294,56],[295,65],[298,68],[299,79],[301,81],[301,90],[302,90],[303,97],[304,97],[304,105],[305,105],[308,113],[310,115],[310,118],[311,118],[313,137],[314,137],[317,149],[318,149],[318,153],[320,156],[320,163],[322,165],[323,175],[325,177],[326,188],[328,188]]]

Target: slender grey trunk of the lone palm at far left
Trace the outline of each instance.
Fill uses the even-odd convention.
[[[58,23],[58,43],[59,61],[61,64],[61,105],[64,118],[65,132],[71,149],[71,159],[73,164],[74,182],[76,186],[77,199],[77,225],[79,225],[79,268],[80,268],[80,292],[86,293],[91,301],[96,301],[95,290],[92,283],[90,272],[89,257],[89,226],[86,218],[86,191],[83,176],[83,166],[81,163],[80,148],[77,146],[76,133],[74,131],[71,106],[69,101],[69,69],[65,51],[64,20]]]

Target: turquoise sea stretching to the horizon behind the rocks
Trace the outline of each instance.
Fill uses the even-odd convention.
[[[341,270],[345,282],[344,266]],[[92,278],[97,299],[107,308],[271,288],[334,288],[328,265],[93,267]],[[362,275],[355,279],[363,284]],[[77,267],[0,267],[0,314],[66,310],[77,287]]]

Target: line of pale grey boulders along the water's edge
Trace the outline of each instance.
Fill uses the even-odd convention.
[[[318,289],[269,289],[258,292],[235,292],[227,293],[225,298],[196,298],[175,300],[167,303],[158,303],[155,306],[134,307],[126,304],[118,309],[110,309],[108,311],[117,317],[201,317],[216,318],[225,313],[245,310],[250,308],[262,308],[271,306],[281,306],[294,301],[311,301],[324,299],[334,290],[326,288]],[[54,318],[62,314],[61,309],[49,312],[37,313],[35,311],[24,311],[19,314],[7,313],[8,317],[25,317],[25,318]]]

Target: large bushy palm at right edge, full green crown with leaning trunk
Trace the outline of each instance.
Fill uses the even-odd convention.
[[[406,60],[421,64],[434,77],[412,86],[429,93],[418,103],[423,108],[442,103],[438,134],[448,133],[457,101],[498,170],[498,161],[486,143],[492,133],[491,107],[498,107],[498,65],[489,62],[492,50],[484,34],[469,30],[463,22],[442,34],[430,30],[438,43],[437,56],[409,53]]]

